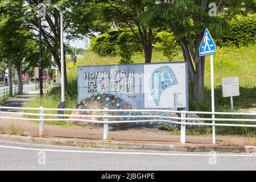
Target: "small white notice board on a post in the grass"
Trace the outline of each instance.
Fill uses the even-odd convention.
[[[238,77],[222,78],[222,96],[240,96]]]

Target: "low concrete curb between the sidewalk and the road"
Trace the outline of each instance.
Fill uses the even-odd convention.
[[[77,140],[77,139],[53,139],[22,137],[17,135],[0,134],[1,140],[9,142],[20,142],[30,144],[45,144],[52,146],[91,147],[91,148],[113,148],[125,150],[147,150],[147,151],[170,151],[170,152],[220,152],[220,153],[256,153],[256,146],[232,147],[232,146],[185,146],[174,144],[143,144],[143,143],[121,143],[105,142],[99,140]]]

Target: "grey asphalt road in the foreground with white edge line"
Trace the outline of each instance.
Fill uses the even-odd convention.
[[[0,141],[0,170],[256,170],[256,155],[101,150]]]

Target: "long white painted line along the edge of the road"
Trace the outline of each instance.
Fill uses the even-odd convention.
[[[174,153],[150,153],[150,152],[107,152],[107,151],[81,151],[81,150],[52,150],[52,149],[44,149],[44,148],[25,148],[25,147],[11,147],[11,146],[0,146],[0,148],[11,148],[17,150],[30,150],[30,151],[46,151],[46,152],[70,152],[70,153],[87,153],[87,154],[125,154],[125,155],[172,155],[172,156],[246,156],[246,157],[255,157],[256,154],[217,154],[211,153],[209,154],[174,154]]]

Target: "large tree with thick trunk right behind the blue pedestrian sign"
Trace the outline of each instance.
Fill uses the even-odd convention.
[[[199,46],[205,28],[208,27],[213,37],[226,30],[227,20],[237,14],[246,14],[256,10],[255,0],[218,0],[218,16],[209,16],[209,1],[191,0],[143,0],[147,8],[142,22],[151,26],[167,24],[174,32],[182,47],[184,59],[188,62],[188,74],[192,85],[193,97],[197,102],[204,99],[204,61],[199,55]]]

